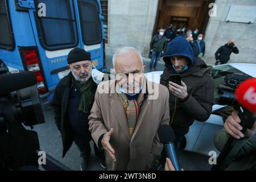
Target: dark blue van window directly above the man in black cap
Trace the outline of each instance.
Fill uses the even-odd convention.
[[[78,44],[76,16],[72,0],[38,0],[46,4],[46,17],[37,17],[39,39],[47,50]]]

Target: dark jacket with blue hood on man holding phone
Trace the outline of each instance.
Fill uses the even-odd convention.
[[[170,57],[185,56],[189,60],[188,69],[180,72],[181,80],[187,85],[188,96],[184,100],[177,99],[175,110],[175,96],[170,93],[170,118],[171,123],[177,129],[188,129],[193,121],[207,121],[212,113],[214,81],[210,74],[212,67],[205,64],[200,58],[194,59],[191,46],[186,39],[178,36],[170,44],[164,53],[166,63],[160,84],[168,88],[169,75],[177,74],[172,67]],[[171,121],[170,121],[171,122]]]

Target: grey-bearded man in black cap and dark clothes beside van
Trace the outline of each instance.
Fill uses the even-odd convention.
[[[84,49],[75,48],[68,54],[68,67],[71,72],[56,86],[52,100],[57,129],[61,133],[63,142],[63,157],[71,147],[73,141],[81,152],[81,170],[89,168],[90,140],[92,139],[88,116],[94,102],[97,84],[94,83],[91,72],[92,62],[90,53]],[[104,152],[94,150],[101,159],[101,166],[105,167]]]

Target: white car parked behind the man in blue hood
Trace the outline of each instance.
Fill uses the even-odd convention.
[[[252,77],[256,77],[256,64],[223,64],[214,66],[212,69],[212,75],[215,82],[214,98],[218,97],[217,87],[218,85],[225,85],[224,77],[229,73],[246,73]],[[163,71],[149,72],[146,73],[148,80],[153,82],[160,82],[160,75]],[[225,107],[224,105],[213,105],[212,112],[217,109]],[[184,150],[197,152],[203,155],[209,155],[210,151],[218,152],[217,148],[214,146],[214,134],[224,127],[224,122],[220,115],[211,114],[206,122],[193,122],[193,125],[189,127],[189,133],[185,135],[181,146]]]

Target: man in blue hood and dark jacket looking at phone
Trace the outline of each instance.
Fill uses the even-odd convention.
[[[170,91],[170,126],[174,129],[176,148],[188,133],[189,126],[207,121],[212,113],[214,81],[212,67],[193,56],[188,41],[181,36],[173,39],[163,55],[165,69],[160,84]],[[171,82],[170,75],[180,75],[181,85]]]

